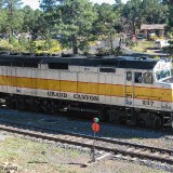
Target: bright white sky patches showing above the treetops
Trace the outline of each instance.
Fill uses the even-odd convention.
[[[115,3],[115,0],[90,0],[93,3]],[[128,0],[122,0],[123,3],[125,3]],[[34,10],[39,9],[39,0],[23,0],[23,5],[29,5]]]

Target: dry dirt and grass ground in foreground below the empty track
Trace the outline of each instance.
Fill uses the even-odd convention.
[[[0,133],[0,173],[161,173],[127,161],[105,159],[82,168],[88,152]]]

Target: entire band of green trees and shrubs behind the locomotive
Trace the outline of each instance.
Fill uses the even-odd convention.
[[[173,38],[173,5],[169,0],[130,0],[127,4],[115,0],[112,5],[89,0],[40,0],[41,10],[36,11],[21,4],[22,0],[0,0],[0,34],[10,41],[1,49],[53,52],[61,46],[88,53],[89,43],[101,40],[114,52],[115,34],[136,34],[141,24],[167,24],[167,36]],[[31,35],[31,39],[24,38],[24,34]],[[14,35],[22,35],[18,41]],[[61,36],[61,45],[52,45],[52,35]],[[44,42],[37,46],[36,40]],[[136,46],[131,40],[127,44]]]

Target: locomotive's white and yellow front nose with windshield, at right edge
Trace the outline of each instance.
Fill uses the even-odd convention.
[[[160,111],[164,112],[163,120],[165,124],[173,127],[173,74],[172,62],[161,59],[154,68],[154,77],[156,80],[156,88],[158,90],[157,96],[160,99]],[[167,117],[169,120],[167,120]]]

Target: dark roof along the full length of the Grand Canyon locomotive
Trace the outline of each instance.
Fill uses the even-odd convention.
[[[24,56],[24,55],[0,55],[0,65],[4,63],[13,64],[67,64],[76,66],[91,67],[114,67],[114,68],[134,68],[134,69],[152,69],[157,59],[139,58],[132,56]]]

